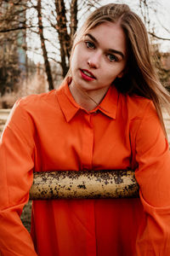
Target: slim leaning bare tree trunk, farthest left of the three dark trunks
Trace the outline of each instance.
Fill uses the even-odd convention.
[[[48,61],[48,52],[45,46],[45,39],[43,37],[43,26],[42,26],[42,5],[41,0],[37,0],[37,16],[38,16],[38,28],[39,28],[39,34],[41,39],[41,45],[42,45],[42,54],[45,62],[45,71],[47,73],[48,77],[48,89],[53,90],[54,89],[54,82],[53,77],[51,73],[50,64]]]

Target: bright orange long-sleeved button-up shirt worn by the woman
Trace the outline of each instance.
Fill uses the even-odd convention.
[[[33,171],[132,168],[140,199],[33,201],[31,236],[21,224]],[[87,112],[68,84],[18,101],[1,138],[0,210],[4,256],[169,256],[170,153],[153,103],[111,86]]]

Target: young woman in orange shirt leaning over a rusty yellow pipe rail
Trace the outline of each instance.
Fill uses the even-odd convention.
[[[77,32],[59,90],[16,102],[0,149],[2,255],[169,256],[170,154],[144,24],[125,4]],[[135,170],[140,199],[33,201],[33,171]]]

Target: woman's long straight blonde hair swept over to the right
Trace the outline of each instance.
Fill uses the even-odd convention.
[[[169,113],[170,95],[160,83],[152,64],[149,38],[144,23],[127,4],[110,3],[94,10],[77,32],[72,51],[88,30],[105,21],[118,22],[127,38],[127,72],[122,79],[114,81],[116,89],[123,94],[150,99],[166,132],[161,108],[167,108]]]

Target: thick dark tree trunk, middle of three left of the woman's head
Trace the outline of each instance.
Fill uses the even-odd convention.
[[[60,57],[62,76],[65,77],[69,69],[69,59],[71,53],[71,37],[67,31],[67,20],[64,0],[55,0],[55,9],[57,13],[57,32],[59,35]]]

